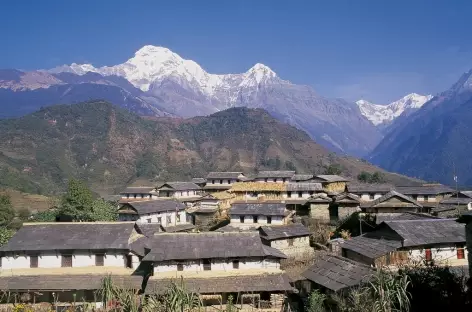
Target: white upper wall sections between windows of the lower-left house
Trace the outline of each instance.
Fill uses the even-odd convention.
[[[124,267],[124,256],[126,252],[106,252],[103,259],[105,267]],[[95,266],[95,253],[86,251],[76,251],[72,256],[72,267]],[[133,258],[133,267],[139,265],[139,258],[135,255]],[[136,266],[135,266],[136,265]],[[62,255],[59,252],[44,251],[38,254],[38,268],[60,268],[62,266]],[[2,269],[20,269],[30,268],[30,256],[20,255],[18,257],[2,257]]]

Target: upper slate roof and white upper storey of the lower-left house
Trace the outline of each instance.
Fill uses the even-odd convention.
[[[1,268],[136,268],[133,231],[133,222],[25,223],[0,249]]]

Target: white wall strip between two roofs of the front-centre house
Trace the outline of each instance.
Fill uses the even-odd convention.
[[[203,271],[202,260],[186,260],[183,272]],[[239,259],[239,269],[233,268],[232,259],[211,259],[211,271],[240,271],[250,269],[280,269],[279,259],[247,258]],[[178,272],[177,263],[162,261],[154,263],[154,274],[159,272]]]

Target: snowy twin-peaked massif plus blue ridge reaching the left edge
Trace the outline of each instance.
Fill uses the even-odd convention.
[[[167,48],[144,46],[115,66],[63,65],[50,70],[0,72],[0,116],[45,105],[105,99],[146,116],[194,117],[230,107],[262,108],[306,131],[340,154],[365,155],[382,134],[355,103],[328,99],[311,87],[281,79],[263,64],[245,73],[216,75]]]

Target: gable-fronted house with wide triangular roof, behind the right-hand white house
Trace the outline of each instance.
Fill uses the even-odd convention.
[[[397,191],[390,191],[373,201],[361,203],[361,209],[363,212],[373,214],[423,212],[424,210],[422,204]]]

